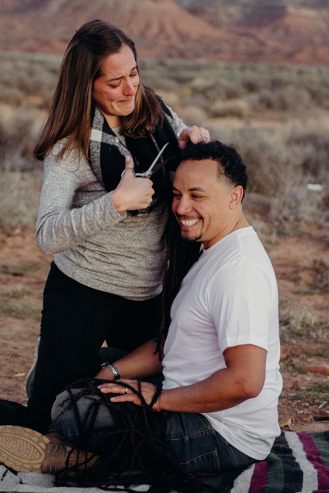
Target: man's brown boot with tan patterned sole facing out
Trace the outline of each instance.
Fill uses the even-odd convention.
[[[0,426],[0,462],[18,472],[43,472],[55,474],[65,467],[66,459],[73,446],[57,433],[41,435],[22,426]],[[78,463],[81,468],[92,456],[91,452],[76,450],[70,456],[69,466]],[[95,462],[97,457],[88,461]]]

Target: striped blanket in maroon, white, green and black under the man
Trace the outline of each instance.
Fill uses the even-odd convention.
[[[220,493],[329,493],[329,431],[283,432],[266,460],[242,472],[200,479]],[[132,488],[153,492],[147,485]],[[200,491],[209,491],[201,486]],[[101,493],[98,488],[55,488],[50,474],[13,474],[0,465],[0,492]],[[173,492],[172,492],[173,493]]]

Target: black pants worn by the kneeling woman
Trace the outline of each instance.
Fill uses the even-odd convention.
[[[27,406],[0,400],[0,424],[47,433],[56,395],[70,383],[93,377],[104,341],[127,352],[148,341],[160,295],[131,301],[93,289],[63,274],[54,262],[45,284],[40,344]]]

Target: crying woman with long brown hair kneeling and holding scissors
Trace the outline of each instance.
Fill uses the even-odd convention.
[[[102,378],[97,355],[104,340],[131,352],[150,339],[162,288],[170,170],[150,180],[132,168],[146,171],[167,142],[164,159],[176,156],[188,139],[196,143],[209,133],[186,128],[143,86],[131,39],[100,20],[76,31],[35,149],[44,160],[36,239],[43,253],[56,256],[44,289],[31,396],[27,407],[2,401],[2,423],[47,432],[62,388]]]

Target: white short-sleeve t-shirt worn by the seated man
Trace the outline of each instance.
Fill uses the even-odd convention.
[[[260,394],[224,411],[203,413],[220,435],[250,457],[267,457],[280,434],[278,291],[271,262],[249,226],[204,250],[171,308],[164,347],[164,388],[200,382],[225,368],[223,351],[253,344],[267,351]]]

